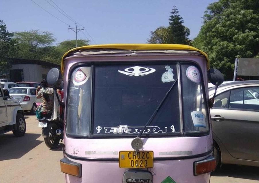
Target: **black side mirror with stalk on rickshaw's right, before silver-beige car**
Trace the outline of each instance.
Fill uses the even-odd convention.
[[[214,98],[216,96],[216,92],[217,92],[217,88],[219,85],[221,85],[224,81],[224,76],[223,74],[218,70],[218,69],[210,69],[208,70],[208,79],[209,81],[215,85],[215,92],[212,98],[209,99],[208,101],[208,105],[210,108],[213,107],[213,103],[214,103]]]

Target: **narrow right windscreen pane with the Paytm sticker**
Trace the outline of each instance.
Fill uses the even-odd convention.
[[[192,64],[181,65],[181,91],[183,105],[183,130],[185,132],[208,131],[206,98],[200,69]]]

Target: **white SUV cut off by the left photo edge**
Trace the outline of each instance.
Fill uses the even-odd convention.
[[[9,96],[8,90],[0,85],[0,134],[11,130],[15,136],[24,136],[26,132],[24,112],[18,100]]]

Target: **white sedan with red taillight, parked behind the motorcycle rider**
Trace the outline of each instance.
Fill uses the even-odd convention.
[[[20,102],[24,111],[30,111],[31,114],[35,114],[36,103],[41,102],[41,99],[36,98],[34,87],[13,87],[9,89],[9,94]]]

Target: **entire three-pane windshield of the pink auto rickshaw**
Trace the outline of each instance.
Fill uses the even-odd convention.
[[[180,65],[179,70],[176,62],[160,62],[94,65],[93,69],[77,67],[71,74],[68,89],[67,134],[137,136],[178,78],[178,72],[181,81],[176,81],[142,136],[180,135],[183,130],[207,131],[201,77],[198,75],[195,80],[195,75],[188,79],[186,72],[191,66],[195,67]],[[195,115],[203,118],[199,125],[193,118]]]

